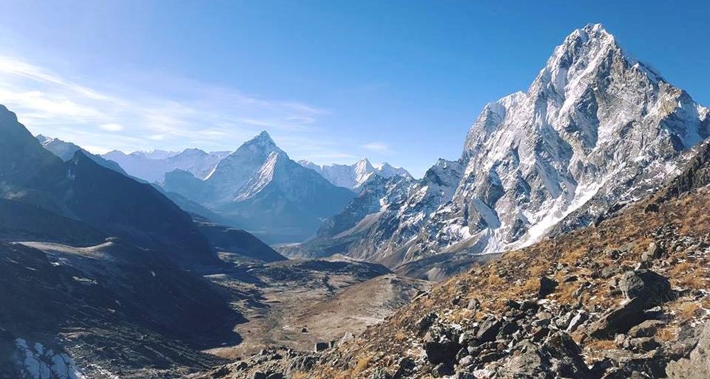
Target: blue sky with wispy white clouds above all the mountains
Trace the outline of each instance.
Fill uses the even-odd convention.
[[[420,176],[586,23],[710,104],[710,5],[673,3],[6,0],[0,103],[98,153],[234,150],[266,129],[295,159]]]

